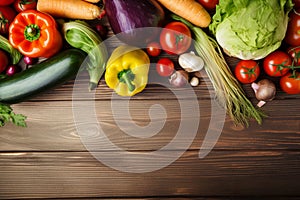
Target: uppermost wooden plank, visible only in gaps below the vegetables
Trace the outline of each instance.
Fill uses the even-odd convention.
[[[197,87],[193,87],[193,90],[195,94],[197,95],[198,99],[212,99],[214,96],[214,90],[211,81],[207,77],[207,74],[205,71],[202,71],[201,73],[202,78],[200,79],[200,85]],[[177,99],[172,92],[170,91],[170,88],[172,88],[169,84],[166,78],[161,78],[156,75],[156,72],[154,69],[150,70],[149,73],[149,84],[145,88],[145,90],[142,93],[139,93],[132,97],[132,99],[139,99],[139,100],[159,100],[159,99]],[[75,81],[76,80],[76,81]],[[39,94],[38,96],[35,96],[31,98],[28,101],[72,101],[72,100],[84,100],[85,93],[88,92],[88,74],[83,72],[78,75],[78,77],[75,80],[70,80],[67,83],[54,88],[49,91],[45,91],[42,94]],[[275,79],[275,83],[277,85],[277,94],[275,100],[280,99],[300,99],[299,95],[288,95],[285,94],[283,91],[280,90],[278,85],[278,79]],[[80,99],[74,99],[72,96],[73,87],[74,85],[78,87],[80,90],[79,92],[82,93],[82,95],[78,95],[77,97],[80,97]],[[242,86],[244,89],[245,94],[251,101],[256,101],[255,95],[253,90],[251,89],[249,84]],[[175,91],[184,91],[185,88],[172,88]],[[105,80],[102,78],[98,88],[95,92],[95,100],[110,100],[112,96],[112,90],[108,88],[108,86],[105,83]],[[91,99],[86,99],[91,100]]]

